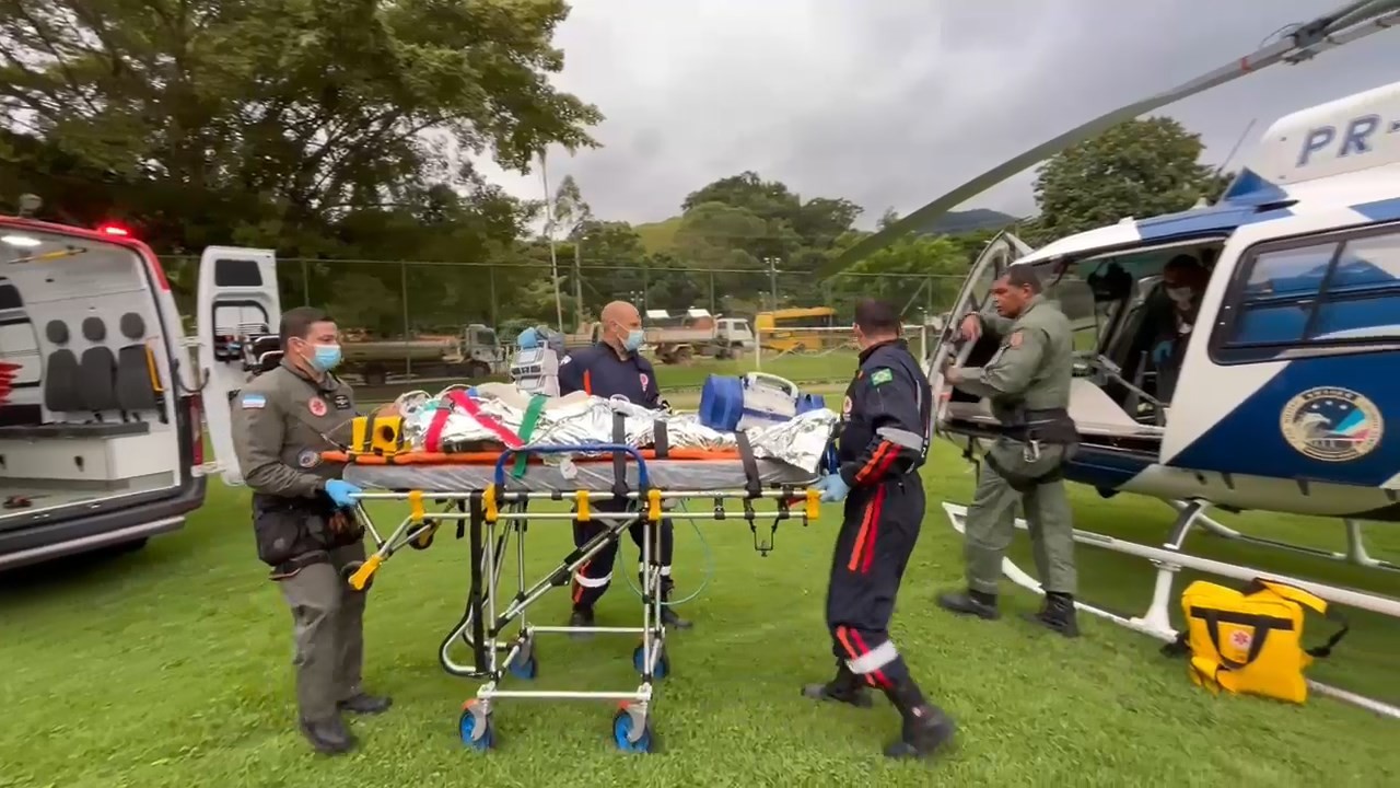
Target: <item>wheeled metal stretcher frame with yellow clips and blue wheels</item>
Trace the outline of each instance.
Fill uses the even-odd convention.
[[[629,456],[637,463],[637,489],[623,491],[622,487],[612,492],[594,492],[578,489],[573,492],[528,492],[510,491],[507,487],[507,461],[517,456],[529,454],[560,454],[560,453],[612,453],[615,460]],[[771,534],[777,531],[778,523],[788,519],[799,519],[804,526],[819,515],[819,491],[806,485],[770,485],[763,487],[757,480],[750,478],[743,489],[658,489],[650,485],[647,460],[637,449],[624,444],[589,444],[589,446],[543,446],[504,449],[496,461],[493,484],[484,489],[470,489],[458,492],[361,492],[356,495],[356,512],[365,531],[375,543],[375,550],[363,564],[347,568],[346,580],[356,590],[368,589],[374,575],[395,552],[405,547],[427,550],[431,547],[438,527],[447,522],[456,523],[456,537],[469,538],[472,582],[468,592],[466,610],[461,620],[442,639],[438,649],[438,662],[442,669],[452,676],[477,677],[486,681],[477,688],[476,695],[469,698],[462,707],[458,729],[462,742],[476,750],[489,750],[496,746],[494,711],[500,698],[533,698],[533,700],[603,700],[619,701],[619,709],[612,719],[613,743],[623,752],[647,753],[654,752],[655,733],[651,726],[651,707],[654,683],[664,679],[671,672],[671,662],[666,656],[666,630],[661,618],[661,566],[654,564],[651,557],[654,540],[659,536],[659,523],[666,517],[665,503],[707,498],[713,502],[713,512],[708,517],[724,520],[728,517],[724,502],[741,499],[743,502],[743,519],[755,534],[755,548],[762,554],[771,550]],[[596,501],[615,501],[626,498],[643,510],[629,509],[627,512],[596,512],[592,503]],[[424,501],[434,501],[445,505],[442,512],[430,513]],[[777,510],[770,536],[760,540],[755,519],[760,516],[753,509],[753,501],[773,499]],[[801,499],[802,506],[794,512],[794,499]],[[365,509],[365,502],[371,501],[405,501],[409,503],[409,515],[399,523],[388,537],[381,536],[374,520]],[[570,501],[574,512],[531,512],[531,501]],[[700,515],[690,515],[700,519]],[[769,516],[764,513],[763,516]],[[529,587],[525,585],[525,533],[531,520],[595,520],[605,522],[606,527],[589,538],[582,547],[573,550],[554,569]],[[550,589],[567,587],[574,573],[601,552],[609,544],[617,543],[623,531],[638,519],[648,526],[643,527],[641,564],[644,566],[641,578],[641,625],[640,627],[542,627],[531,624],[526,618],[529,606],[539,602]],[[515,536],[517,589],[508,600],[500,599],[501,566],[507,558],[511,534]],[[504,634],[511,621],[518,620],[518,632]],[[641,676],[641,684],[630,691],[584,691],[584,690],[503,690],[500,684],[510,673],[517,679],[529,680],[536,676],[538,653],[535,649],[535,635],[559,632],[599,632],[640,635],[641,642],[633,651],[633,666]],[[462,642],[472,649],[470,663],[458,662],[452,656],[452,648]]]

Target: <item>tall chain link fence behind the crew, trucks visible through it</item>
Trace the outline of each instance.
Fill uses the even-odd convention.
[[[162,264],[192,331],[199,258],[162,257]],[[785,271],[776,262],[756,271],[622,266],[561,258],[557,271],[556,287],[554,268],[540,261],[281,258],[279,289],[283,308],[315,306],[336,318],[347,351],[354,351],[347,352],[347,359],[358,359],[347,372],[371,386],[423,377],[500,376],[507,372],[504,348],[519,331],[547,325],[568,335],[571,345],[585,344],[592,338],[591,324],[612,300],[630,301],[643,314],[706,310],[714,317],[746,321],[749,335],[745,338],[741,328],[738,345],[659,359],[678,367],[668,370],[678,384],[699,386],[711,372],[759,369],[794,381],[841,380],[851,369],[848,327],[858,299],[874,296],[893,303],[903,314],[906,332],[920,334],[910,341],[923,345],[923,327],[937,325],[962,286],[959,276],[917,272],[840,273],[818,280],[811,272]],[[717,325],[722,332],[732,324]],[[693,374],[679,367],[690,367]]]

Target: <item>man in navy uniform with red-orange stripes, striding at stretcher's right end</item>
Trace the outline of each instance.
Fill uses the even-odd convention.
[[[953,735],[953,721],[930,704],[889,637],[895,596],[924,520],[924,482],[934,397],[928,379],[899,335],[895,308],[875,299],[855,304],[860,367],[846,388],[836,458],[840,470],[815,487],[822,501],[846,501],[836,537],[826,624],[836,677],[802,694],[871,705],[868,687],[885,693],[903,718],[889,757],[924,757]]]

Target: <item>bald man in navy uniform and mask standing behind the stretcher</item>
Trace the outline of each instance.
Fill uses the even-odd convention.
[[[626,397],[629,402],[648,408],[669,408],[661,398],[657,386],[657,370],[651,362],[641,358],[641,314],[627,301],[612,301],[603,307],[602,341],[591,348],[575,351],[559,365],[559,395],[585,391],[595,397]],[[627,501],[606,499],[594,503],[601,512],[622,512]],[[582,547],[589,538],[606,527],[598,520],[580,523],[574,520],[574,547]],[[643,522],[631,524],[631,540],[641,547]],[[690,621],[676,616],[666,604],[675,583],[671,579],[671,557],[675,552],[675,524],[669,517],[661,520],[659,538],[652,538],[654,550],[661,557],[661,620],[666,627],[689,630]],[[592,627],[594,604],[603,596],[612,582],[613,561],[617,558],[617,543],[602,548],[592,561],[584,564],[574,575],[574,613],[570,627]],[[640,575],[640,572],[638,572]]]

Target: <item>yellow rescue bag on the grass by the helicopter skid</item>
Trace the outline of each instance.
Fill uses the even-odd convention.
[[[1305,609],[1340,625],[1324,645],[1306,651]],[[1348,630],[1324,599],[1263,578],[1245,592],[1196,580],[1182,593],[1182,610],[1187,630],[1177,637],[1177,645],[1190,655],[1187,670],[1196,686],[1295,704],[1308,700],[1303,670],[1313,659],[1329,656]]]

